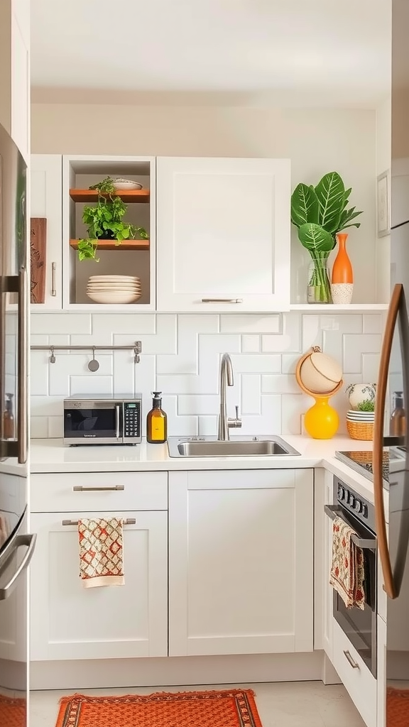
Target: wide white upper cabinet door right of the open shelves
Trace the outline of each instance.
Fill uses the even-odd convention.
[[[156,185],[158,310],[289,308],[290,160],[161,157]]]

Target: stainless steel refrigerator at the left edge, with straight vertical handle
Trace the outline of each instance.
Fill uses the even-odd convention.
[[[0,126],[0,727],[28,713],[27,242],[27,169]]]

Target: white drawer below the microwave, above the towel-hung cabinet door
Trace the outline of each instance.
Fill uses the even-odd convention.
[[[79,510],[167,510],[167,472],[31,475],[32,513]]]

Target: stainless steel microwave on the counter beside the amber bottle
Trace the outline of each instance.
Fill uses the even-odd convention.
[[[65,444],[138,444],[142,395],[71,396],[64,399]]]

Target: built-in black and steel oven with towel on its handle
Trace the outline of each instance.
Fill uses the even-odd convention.
[[[355,545],[362,549],[365,569],[365,605],[346,608],[341,596],[334,590],[333,616],[363,662],[376,677],[376,529],[375,508],[351,487],[334,477],[334,505],[325,505],[325,513],[349,523],[354,529]]]

